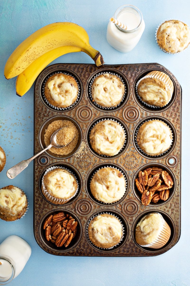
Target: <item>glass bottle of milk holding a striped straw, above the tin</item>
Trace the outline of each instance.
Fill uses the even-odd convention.
[[[145,28],[142,13],[133,5],[123,5],[116,10],[113,18],[126,25],[126,29],[109,21],[107,41],[122,53],[130,52],[140,40]]]

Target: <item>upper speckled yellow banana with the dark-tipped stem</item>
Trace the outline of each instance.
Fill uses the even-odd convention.
[[[97,66],[104,63],[99,51],[89,44],[89,36],[83,27],[71,22],[57,22],[37,30],[13,51],[5,64],[5,78],[18,76],[37,58],[63,46],[81,48]]]

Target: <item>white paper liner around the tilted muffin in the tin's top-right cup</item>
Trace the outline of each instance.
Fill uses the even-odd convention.
[[[171,84],[170,84],[170,82],[169,82],[169,79],[164,79],[164,75],[160,75],[159,73],[160,73],[161,71],[152,71],[152,72],[150,72],[149,73],[149,75],[146,75],[146,76],[144,76],[144,77],[142,77],[140,80],[138,80],[138,82],[136,83],[136,94],[137,94],[137,97],[138,97],[138,99],[140,100],[140,102],[142,102],[143,104],[145,104],[146,106],[148,106],[148,107],[150,107],[150,108],[156,108],[156,109],[161,109],[161,108],[164,108],[164,107],[166,107],[168,104],[169,104],[169,102],[171,101],[171,99],[172,99],[172,95],[173,95],[173,92],[172,92],[172,90],[171,90],[171,88],[172,88],[172,86],[171,86]],[[166,74],[166,73],[164,73],[164,74]],[[167,75],[167,74],[166,74]],[[138,95],[138,90],[137,90],[137,88],[138,88],[138,85],[139,85],[139,83],[142,81],[142,80],[144,80],[145,78],[155,78],[155,79],[157,79],[157,80],[160,80],[161,82],[163,82],[164,84],[166,84],[167,85],[167,87],[169,88],[169,90],[170,90],[170,92],[171,92],[171,97],[170,97],[170,100],[167,102],[167,104],[165,104],[164,106],[156,106],[156,105],[150,105],[150,104],[148,104],[147,102],[145,102],[145,101],[143,101],[142,100],[142,98]],[[171,80],[171,79],[170,79]],[[172,82],[173,83],[173,82]]]

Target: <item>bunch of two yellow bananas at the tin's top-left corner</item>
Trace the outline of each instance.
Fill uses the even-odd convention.
[[[13,51],[5,64],[5,78],[17,76],[16,93],[23,96],[40,72],[54,59],[80,51],[87,53],[97,66],[104,63],[100,52],[89,44],[89,36],[83,27],[70,22],[46,25]]]

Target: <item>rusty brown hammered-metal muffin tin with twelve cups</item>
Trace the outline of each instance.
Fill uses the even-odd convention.
[[[143,105],[136,95],[136,83],[152,70],[163,71],[173,81],[174,91],[169,104],[164,108],[150,108]],[[43,84],[54,73],[73,76],[79,86],[77,103],[64,111],[55,110],[48,105],[43,95]],[[125,83],[126,93],[122,103],[113,109],[100,108],[89,96],[89,86],[96,74],[110,72],[119,75]],[[34,160],[34,236],[44,251],[60,256],[108,256],[135,257],[156,256],[171,249],[179,240],[181,232],[181,87],[175,76],[158,63],[102,65],[94,64],[54,64],[46,67],[36,79],[34,87],[34,153],[44,146],[44,128],[54,120],[69,119],[79,128],[78,150],[85,143],[83,154],[79,157],[55,156],[46,151]],[[65,117],[66,116],[66,117]],[[121,122],[126,129],[126,143],[122,151],[113,157],[100,156],[91,150],[89,132],[92,124],[102,119]],[[160,156],[147,156],[135,143],[135,130],[147,119],[160,119],[169,124],[173,132],[173,143],[169,150]],[[79,183],[77,195],[64,205],[55,205],[41,192],[41,180],[49,166],[64,166],[73,172]],[[95,200],[89,189],[90,175],[102,166],[119,168],[126,177],[126,193],[115,203],[103,204]],[[135,189],[135,178],[147,166],[165,168],[174,181],[173,191],[167,201],[159,204],[142,205]],[[77,235],[67,247],[56,247],[46,241],[42,228],[44,220],[52,213],[64,211],[77,221]],[[143,248],[135,242],[135,227],[138,220],[148,212],[160,212],[171,228],[168,243],[160,249]],[[124,226],[124,237],[112,249],[98,249],[87,238],[87,224],[93,215],[108,212],[117,216]]]

